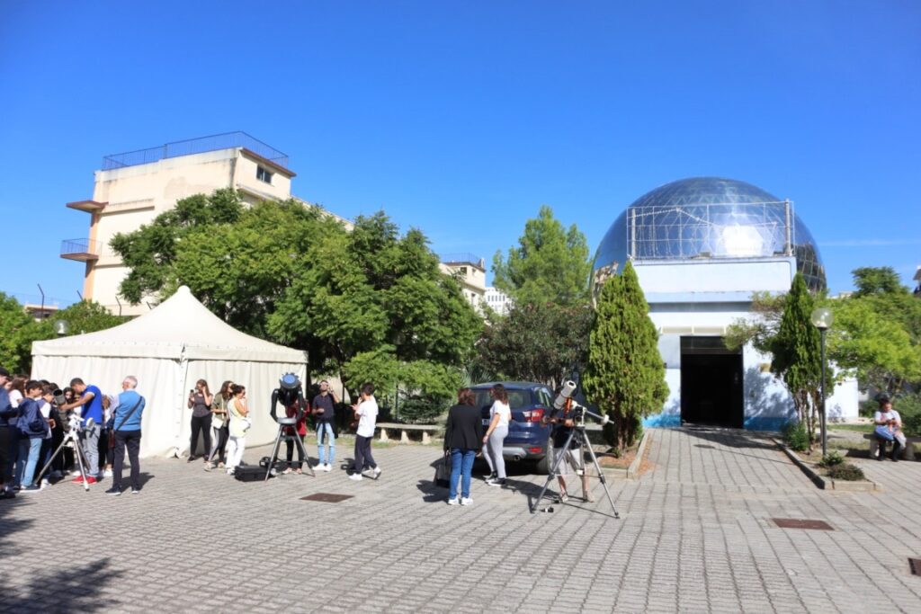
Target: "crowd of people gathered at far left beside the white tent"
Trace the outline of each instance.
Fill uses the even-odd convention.
[[[132,492],[140,492],[146,401],[135,388],[137,378],[127,376],[118,395],[103,395],[79,377],[62,389],[0,367],[0,499],[40,492],[75,473],[72,481],[83,485],[111,478],[107,492],[121,494],[126,450]]]

